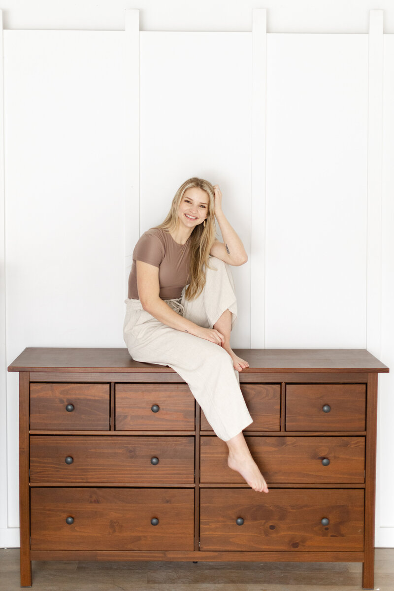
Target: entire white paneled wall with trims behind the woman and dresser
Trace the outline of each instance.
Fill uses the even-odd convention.
[[[381,342],[393,372],[392,37],[382,157],[382,28],[373,55],[367,34],[266,34],[259,10],[253,33],[138,28],[126,11],[125,32],[4,32],[3,368],[27,346],[123,347],[133,245],[201,176],[249,255],[232,346]],[[18,545],[18,379],[0,379],[1,546]],[[392,374],[379,380],[376,543],[394,546]]]

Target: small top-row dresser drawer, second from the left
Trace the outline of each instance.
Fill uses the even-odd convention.
[[[194,431],[194,397],[183,384],[116,384],[117,431]]]

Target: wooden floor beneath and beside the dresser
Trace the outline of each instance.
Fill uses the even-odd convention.
[[[360,591],[359,563],[33,562],[35,591]],[[0,591],[19,590],[19,548],[0,550]],[[394,548],[375,589],[394,591]]]

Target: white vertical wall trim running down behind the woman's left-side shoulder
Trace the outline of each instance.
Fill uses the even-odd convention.
[[[139,11],[125,11],[125,297],[139,236]]]

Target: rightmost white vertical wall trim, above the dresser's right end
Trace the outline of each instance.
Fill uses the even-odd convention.
[[[383,11],[369,11],[366,348],[382,343]]]

